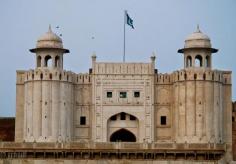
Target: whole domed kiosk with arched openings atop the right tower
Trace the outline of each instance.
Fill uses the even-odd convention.
[[[210,38],[203,34],[197,26],[196,32],[185,39],[184,48],[179,49],[178,53],[184,54],[185,69],[211,69],[211,55],[217,51],[217,49],[211,47]]]

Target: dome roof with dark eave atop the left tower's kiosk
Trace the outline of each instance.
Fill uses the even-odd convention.
[[[45,48],[61,49],[65,53],[69,52],[69,50],[63,49],[62,39],[54,32],[52,32],[51,26],[49,26],[48,32],[39,37],[39,39],[37,40],[36,48],[31,49],[30,51],[36,52],[36,50]]]

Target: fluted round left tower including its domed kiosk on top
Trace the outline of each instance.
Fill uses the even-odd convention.
[[[63,55],[69,50],[49,26],[30,52],[36,54],[36,68],[25,72],[23,140],[70,141],[73,74],[63,70]]]

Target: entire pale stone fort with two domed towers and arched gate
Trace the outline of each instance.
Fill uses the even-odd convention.
[[[146,63],[111,63],[93,54],[88,73],[66,71],[69,50],[50,27],[30,51],[35,68],[17,71],[15,141],[0,143],[0,158],[232,161],[231,71],[212,69],[218,50],[199,27],[178,50],[183,68],[170,74],[158,72],[155,55]]]

